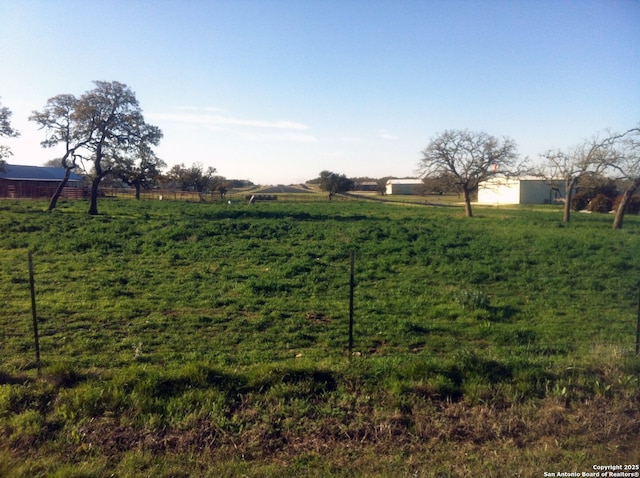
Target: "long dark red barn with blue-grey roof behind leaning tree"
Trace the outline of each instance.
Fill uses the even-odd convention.
[[[53,196],[64,179],[65,169],[47,166],[5,164],[0,170],[0,197],[47,198]],[[83,197],[82,177],[71,173],[63,196]]]

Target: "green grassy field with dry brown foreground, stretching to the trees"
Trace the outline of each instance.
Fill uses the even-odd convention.
[[[562,224],[553,206],[45,208],[0,202],[0,476],[640,462],[638,217],[613,231],[607,215]]]

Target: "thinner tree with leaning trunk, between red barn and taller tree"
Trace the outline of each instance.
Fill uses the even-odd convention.
[[[54,96],[47,100],[47,104],[41,111],[34,111],[29,117],[30,121],[36,122],[40,129],[45,130],[46,139],[40,143],[42,147],[52,148],[60,144],[64,146],[64,153],[56,163],[65,169],[65,174],[51,196],[49,211],[56,208],[71,171],[78,167],[79,151],[91,140],[91,135],[84,133],[75,118],[77,104],[78,99],[74,95]]]

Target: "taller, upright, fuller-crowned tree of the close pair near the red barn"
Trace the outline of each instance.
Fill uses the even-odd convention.
[[[74,111],[79,134],[87,139],[84,149],[93,164],[89,214],[98,214],[98,188],[109,174],[126,169],[136,154],[145,155],[157,146],[162,132],[145,122],[131,89],[117,81],[94,82]]]

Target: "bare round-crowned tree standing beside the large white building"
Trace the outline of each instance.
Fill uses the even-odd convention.
[[[485,132],[446,130],[422,151],[418,171],[423,177],[446,179],[464,196],[465,212],[472,217],[471,194],[496,174],[518,172],[516,144]]]

